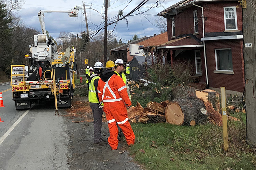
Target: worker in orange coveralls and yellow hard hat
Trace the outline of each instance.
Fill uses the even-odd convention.
[[[98,82],[99,101],[103,101],[103,111],[108,120],[110,137],[108,139],[112,150],[117,150],[118,129],[116,123],[123,130],[128,146],[134,144],[135,135],[128,121],[127,108],[131,106],[131,101],[126,91],[126,85],[113,68],[113,61],[106,63],[106,71],[100,77]]]

